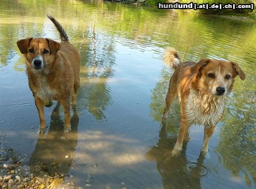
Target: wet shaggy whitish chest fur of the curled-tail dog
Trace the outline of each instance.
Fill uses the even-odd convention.
[[[185,116],[192,124],[216,125],[225,107],[225,96],[200,95],[191,89],[185,107]]]

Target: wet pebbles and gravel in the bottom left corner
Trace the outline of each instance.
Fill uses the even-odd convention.
[[[5,138],[0,136],[0,188],[82,188],[74,182],[69,182],[67,175],[47,173],[40,162],[35,166],[35,173],[29,173],[27,155],[22,157],[14,149],[6,148],[5,141]]]

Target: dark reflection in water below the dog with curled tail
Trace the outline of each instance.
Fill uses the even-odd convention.
[[[196,162],[188,161],[186,157],[187,142],[179,157],[173,157],[172,149],[177,140],[177,132],[166,131],[174,125],[163,124],[159,131],[159,141],[146,154],[146,158],[156,162],[159,174],[162,176],[164,188],[201,188],[200,179],[209,173],[204,166],[204,156],[200,154]]]

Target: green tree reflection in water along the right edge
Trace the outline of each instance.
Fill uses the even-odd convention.
[[[246,82],[236,83],[236,90],[227,104],[217,144],[226,169],[232,172],[234,179],[244,177],[247,186],[254,186],[256,181],[256,86],[250,82],[251,79],[255,78],[249,75]]]

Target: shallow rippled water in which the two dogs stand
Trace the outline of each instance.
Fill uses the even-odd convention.
[[[39,118],[16,41],[59,34],[45,16],[63,25],[81,55],[81,84],[72,132],[63,132],[63,109],[45,108]],[[90,188],[254,188],[256,25],[217,16],[98,1],[0,1],[0,127],[5,146],[47,171],[72,175]],[[179,158],[170,156],[179,129],[179,104],[161,124],[172,71],[163,49],[182,60],[233,60],[237,78],[209,153],[200,156],[203,127],[191,127]],[[56,107],[56,108],[55,108]],[[65,158],[68,156],[69,158]],[[52,162],[56,167],[52,169]]]

